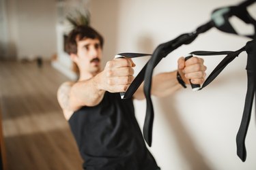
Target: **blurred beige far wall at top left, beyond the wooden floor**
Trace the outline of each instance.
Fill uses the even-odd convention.
[[[8,58],[56,54],[56,5],[47,0],[8,0]]]

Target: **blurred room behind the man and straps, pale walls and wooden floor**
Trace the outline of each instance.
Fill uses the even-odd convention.
[[[159,45],[194,31],[218,7],[242,0],[0,0],[1,167],[11,170],[74,170],[82,160],[57,103],[57,88],[76,80],[65,52],[72,25],[66,17],[89,10],[91,26],[104,36],[103,65],[120,52],[152,53]],[[256,18],[256,3],[248,7]],[[238,18],[240,33],[253,33]],[[238,50],[250,39],[213,28],[173,51],[154,73],[177,69],[177,58],[195,50]],[[208,75],[224,56],[203,56]],[[135,75],[148,57],[136,58]],[[102,65],[102,67],[103,67]],[[246,137],[247,158],[236,154],[246,96],[246,52],[201,91],[189,87],[156,99],[149,150],[162,170],[256,169],[255,105]],[[134,101],[139,125],[145,101]],[[122,170],[122,169],[120,169]]]

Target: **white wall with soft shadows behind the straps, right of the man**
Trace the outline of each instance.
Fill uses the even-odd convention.
[[[239,2],[94,0],[91,1],[92,25],[105,37],[104,57],[108,61],[119,52],[153,52],[158,44],[210,20],[212,10],[217,7]],[[256,16],[256,5],[249,10]],[[169,54],[154,73],[175,70],[177,58],[193,50],[238,50],[246,41],[211,29],[199,35],[193,44]],[[209,75],[223,56],[203,58]],[[136,62],[141,67],[145,59]],[[236,133],[246,95],[245,67],[246,54],[242,53],[205,89],[192,92],[186,88],[165,99],[153,98],[155,119],[150,150],[162,170],[256,169],[255,109],[246,137],[246,162],[242,163],[236,155]],[[134,101],[134,104],[142,126],[145,101]]]

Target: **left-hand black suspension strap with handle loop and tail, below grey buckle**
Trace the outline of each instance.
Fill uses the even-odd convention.
[[[139,88],[139,86],[141,85],[143,80],[145,80],[145,78],[150,78],[150,82],[151,82],[152,76],[148,77],[148,73],[147,75],[145,74],[147,71],[147,68],[156,67],[156,65],[161,61],[161,59],[167,56],[170,52],[182,46],[183,44],[190,44],[192,41],[195,40],[197,35],[199,35],[200,33],[204,33],[205,31],[208,31],[213,26],[214,24],[212,23],[212,21],[207,22],[206,24],[203,24],[201,27],[198,27],[196,31],[193,31],[192,33],[182,34],[171,41],[167,41],[164,44],[160,44],[152,54],[152,58],[155,59],[154,65],[152,65],[152,63],[149,63],[152,60],[151,58],[150,61],[148,61],[146,65],[143,67],[143,69],[141,69],[141,71],[139,72],[137,77],[134,79],[132,84],[130,84],[128,90],[126,90],[126,92],[120,93],[121,97],[123,99],[128,99],[132,97],[134,92],[137,90],[137,88]],[[117,54],[115,58],[118,58],[118,57],[134,58],[138,56],[148,56],[148,55],[150,54],[120,53],[120,54]],[[144,86],[144,93],[145,91],[149,90],[149,88],[151,88],[151,83],[149,84],[148,82],[145,81],[145,85],[146,87]],[[153,109],[150,94],[145,93],[145,98],[147,101],[147,111],[146,111],[145,122],[143,126],[143,135],[147,144],[151,146],[154,109]]]

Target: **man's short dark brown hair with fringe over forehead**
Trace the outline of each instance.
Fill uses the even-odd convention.
[[[66,50],[68,54],[76,54],[77,53],[77,41],[82,39],[91,38],[98,39],[100,41],[100,47],[103,48],[104,39],[100,33],[98,33],[95,29],[81,25],[73,29],[67,39]]]

